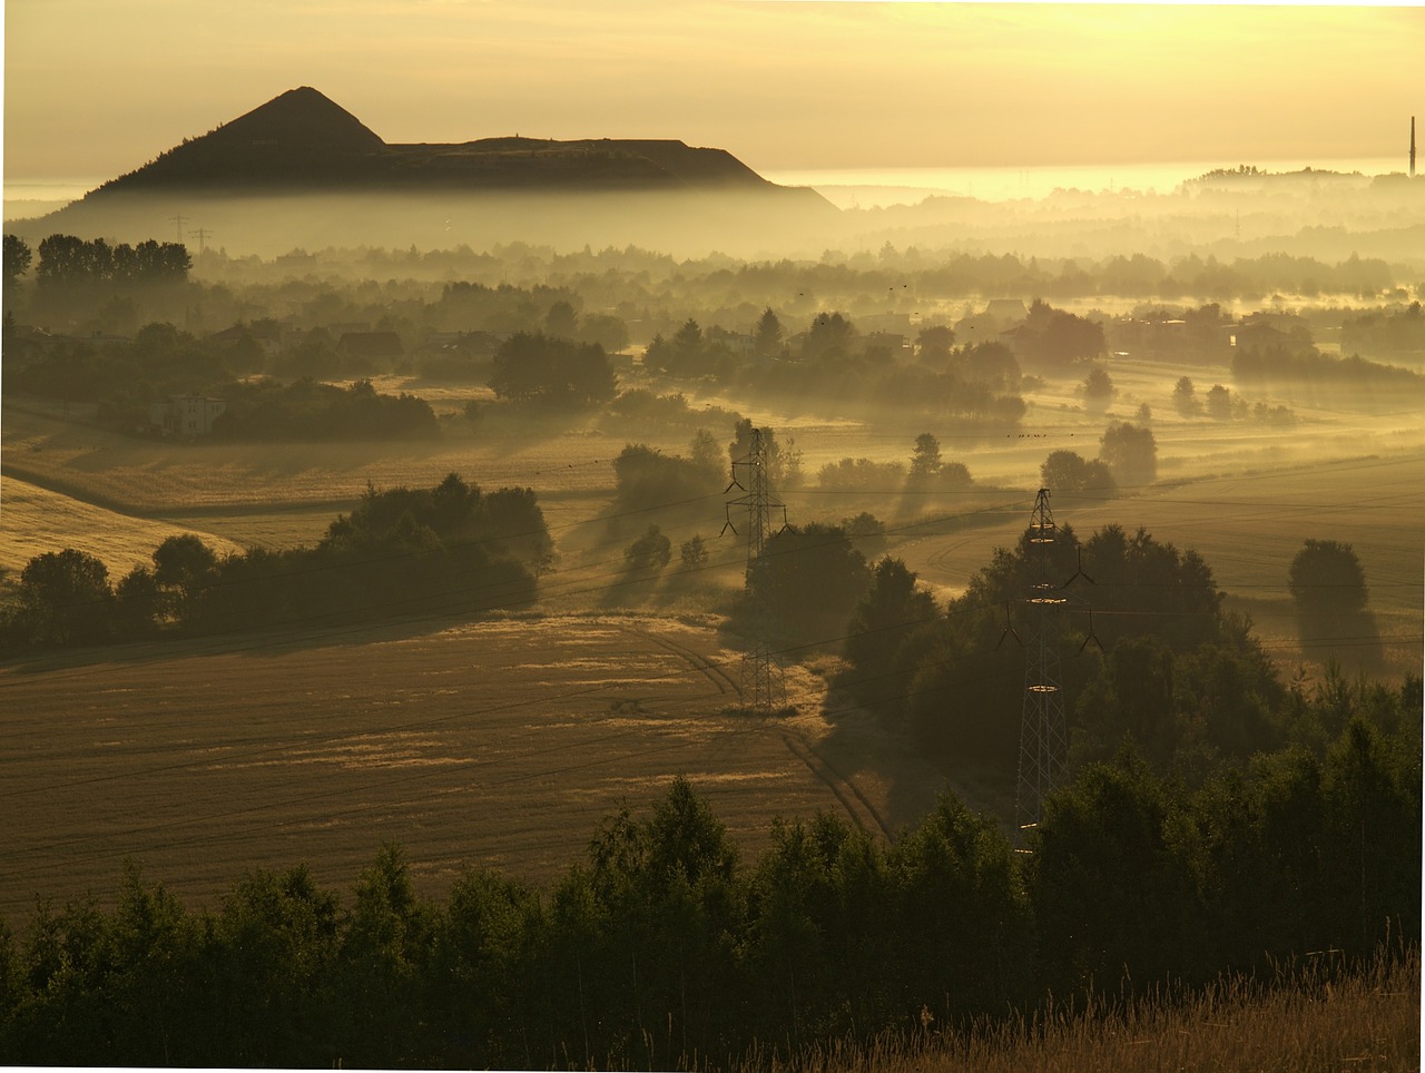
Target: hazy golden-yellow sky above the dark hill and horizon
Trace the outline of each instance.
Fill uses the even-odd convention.
[[[4,172],[107,178],[296,85],[386,141],[658,137],[751,167],[1401,157],[1425,7],[7,0]]]

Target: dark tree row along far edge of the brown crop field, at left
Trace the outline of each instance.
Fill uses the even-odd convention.
[[[167,539],[117,583],[76,549],[36,556],[0,620],[7,650],[523,607],[553,559],[529,489],[482,493],[456,475],[435,489],[368,487],[315,547],[218,556]]]

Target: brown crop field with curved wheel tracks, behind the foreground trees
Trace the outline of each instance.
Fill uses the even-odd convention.
[[[446,628],[131,646],[0,670],[0,913],[91,891],[124,859],[190,903],[306,862],[346,886],[393,841],[433,895],[470,865],[547,881],[623,802],[685,775],[747,852],[774,817],[878,835],[942,779],[791,668],[799,714],[740,708],[710,623],[507,617]]]

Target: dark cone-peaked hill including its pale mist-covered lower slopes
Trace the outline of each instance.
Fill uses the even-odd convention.
[[[392,144],[304,85],[7,229],[31,244],[53,234],[141,242],[177,218],[229,252],[259,255],[512,241],[691,255],[772,248],[838,217],[815,191],[768,182],[720,148],[522,137]]]

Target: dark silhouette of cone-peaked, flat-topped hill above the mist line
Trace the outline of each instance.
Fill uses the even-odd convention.
[[[725,150],[690,148],[675,140],[503,137],[457,144],[388,144],[339,104],[302,85],[200,138],[185,140],[144,167],[110,180],[94,194],[314,188],[787,190]]]

